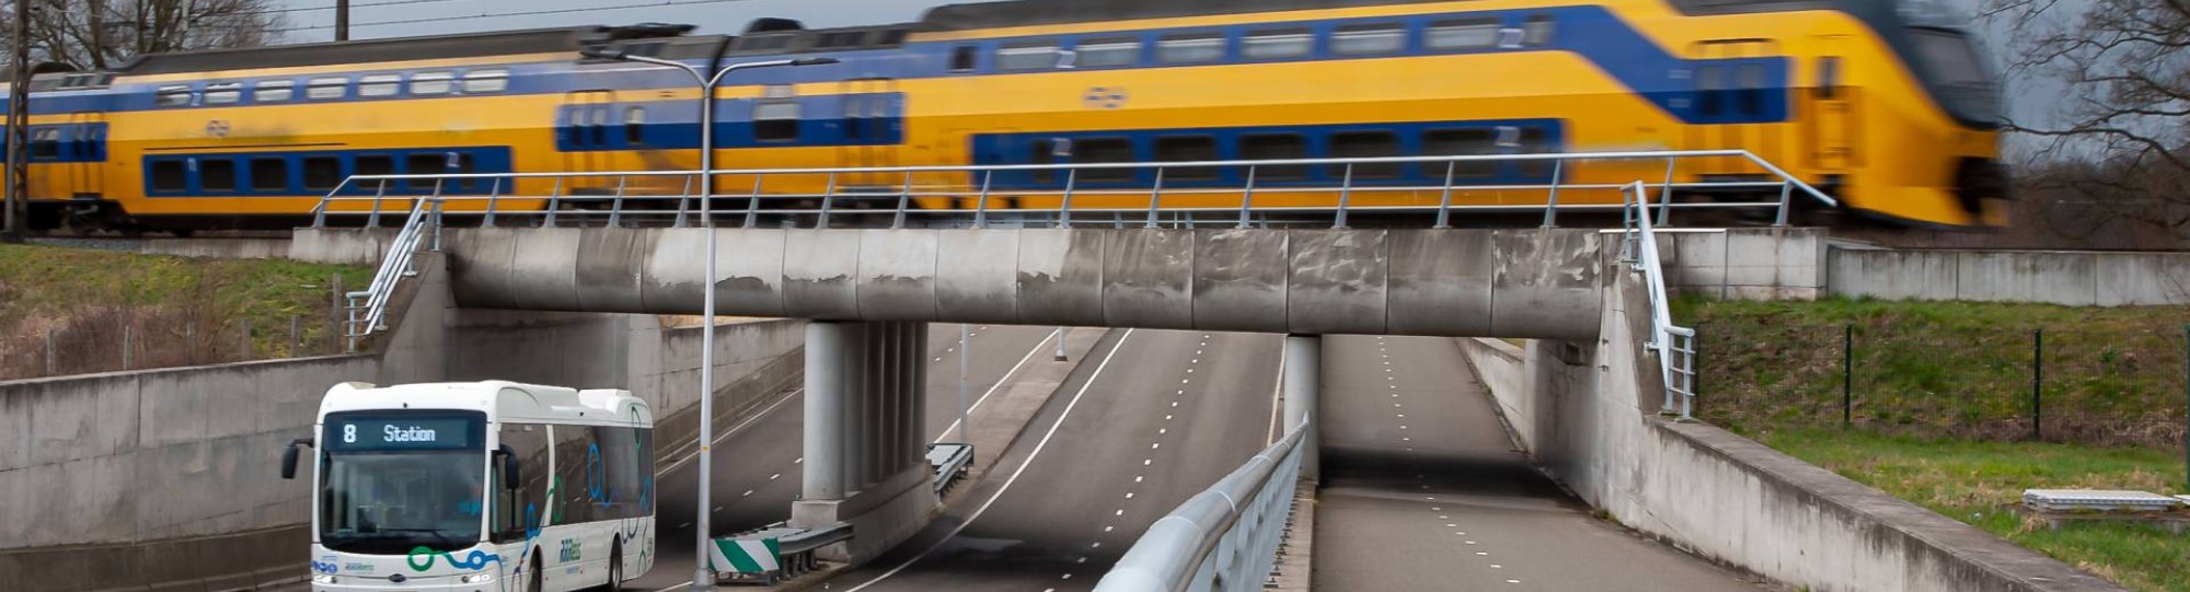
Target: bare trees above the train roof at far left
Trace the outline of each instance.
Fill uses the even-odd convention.
[[[250,48],[283,24],[272,0],[18,0],[31,2],[31,55],[103,70],[147,53]],[[13,22],[0,42],[13,44]]]

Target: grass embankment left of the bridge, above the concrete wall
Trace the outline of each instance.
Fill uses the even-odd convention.
[[[335,353],[335,274],[370,281],[355,265],[0,246],[0,377],[48,375],[48,331],[57,375],[123,368],[125,335],[131,368]]]

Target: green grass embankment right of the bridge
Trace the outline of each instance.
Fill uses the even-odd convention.
[[[2190,493],[2190,307],[1684,300],[1675,318],[1704,327],[1706,421],[2133,590],[2190,592],[2190,535],[2113,522],[2052,531],[2015,511],[2024,489]]]

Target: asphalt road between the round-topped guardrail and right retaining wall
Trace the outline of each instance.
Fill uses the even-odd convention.
[[[1763,590],[1590,517],[1443,338],[1327,338],[1314,590]]]

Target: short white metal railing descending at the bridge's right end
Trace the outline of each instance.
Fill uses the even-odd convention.
[[[1667,300],[1664,289],[1664,259],[1658,257],[1658,235],[1651,221],[1649,189],[1642,182],[1627,184],[1623,193],[1629,197],[1623,235],[1621,259],[1632,263],[1636,272],[1642,272],[1649,285],[1649,342],[1647,349],[1658,351],[1658,375],[1664,382],[1664,406],[1660,412],[1671,412],[1675,399],[1680,403],[1680,419],[1693,419],[1695,412],[1695,329],[1673,325],[1673,311]],[[1667,195],[1658,200],[1664,202]]]

